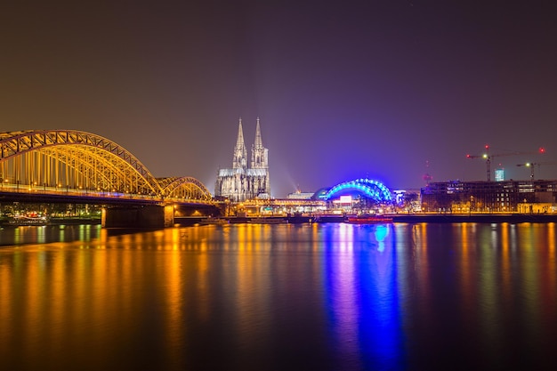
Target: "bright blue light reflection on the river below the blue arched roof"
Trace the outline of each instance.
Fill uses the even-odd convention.
[[[392,225],[324,231],[331,331],[345,369],[403,369],[396,251]]]

